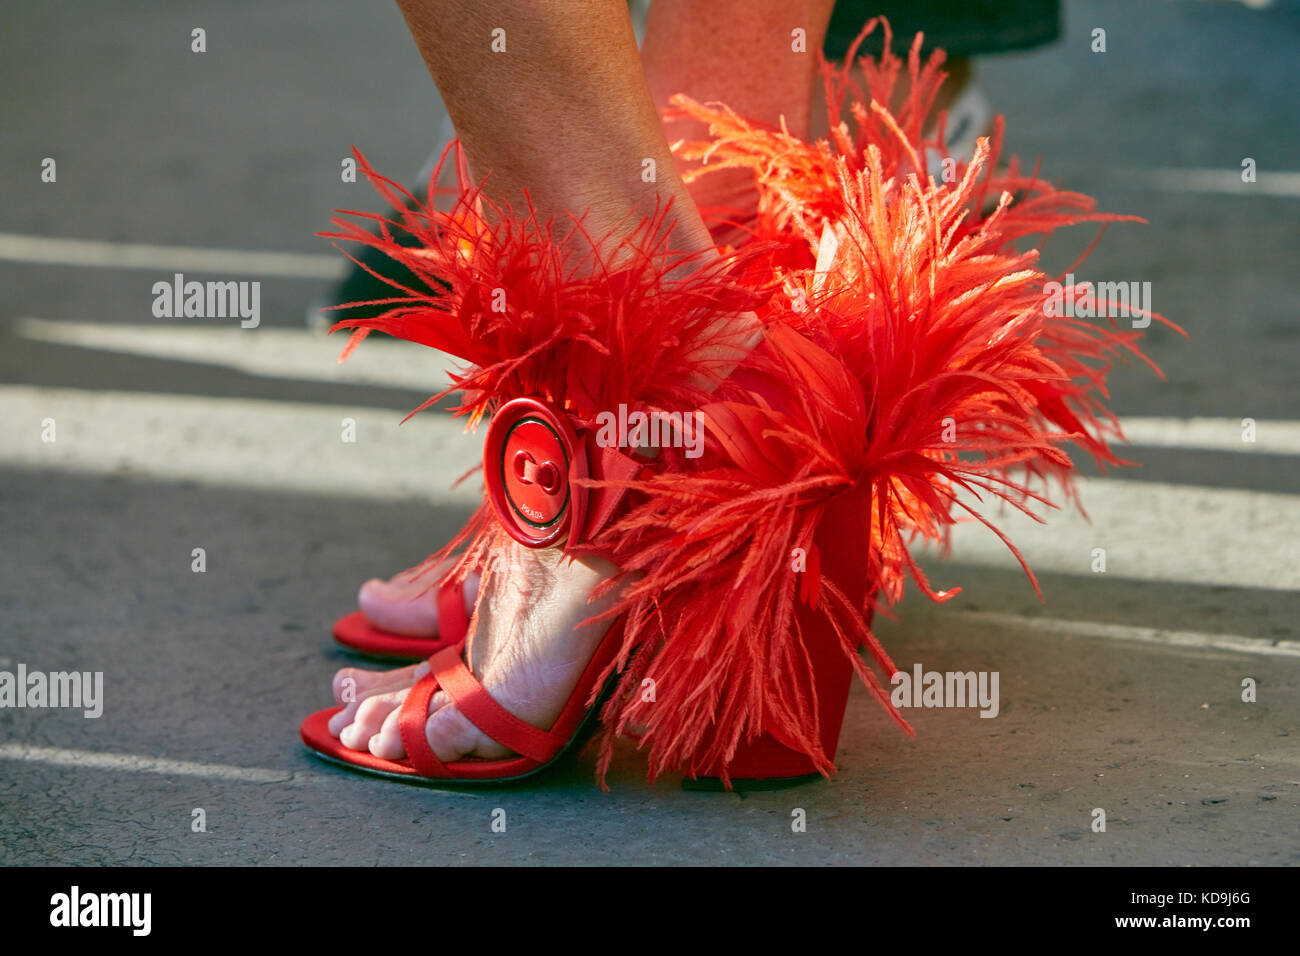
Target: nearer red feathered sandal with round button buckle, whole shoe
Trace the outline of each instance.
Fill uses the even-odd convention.
[[[373,177],[364,160],[361,168]],[[506,719],[459,653],[443,650],[407,696],[406,761],[343,748],[328,734],[337,710],[308,718],[304,741],[407,779],[517,779],[552,760],[612,687],[602,773],[615,735],[641,741],[651,777],[680,769],[731,786],[831,773],[854,669],[888,706],[857,648],[866,644],[885,674],[893,670],[866,627],[868,538],[832,535],[842,518],[870,537],[868,497],[826,450],[861,446],[853,380],[780,324],[734,371],[734,356],[702,354],[698,343],[716,336],[723,316],[763,307],[772,286],[751,281],[754,255],[682,268],[685,258],[666,246],[667,209],[604,250],[582,230],[555,241],[530,215],[495,209],[489,219],[482,202],[467,189],[451,213],[408,219],[417,247],[386,230],[337,234],[384,247],[439,289],[339,325],[356,330],[351,345],[378,329],[468,360],[448,392],[465,395],[462,412],[493,414],[490,511],[445,549],[468,541],[443,587],[468,567],[485,568],[486,587],[507,536],[563,546],[621,570],[607,583],[619,593],[612,623],[550,730]],[[666,423],[654,467],[619,450],[640,441],[608,434],[610,419],[628,412]],[[697,433],[694,457],[688,431]],[[430,761],[415,727],[438,687],[521,756]]]

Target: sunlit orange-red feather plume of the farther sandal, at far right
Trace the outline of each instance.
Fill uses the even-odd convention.
[[[862,40],[878,27],[885,34],[883,57],[858,59]],[[888,22],[872,20],[842,68],[823,62],[829,137],[815,143],[753,124],[723,104],[676,98],[677,109],[710,129],[708,139],[677,147],[702,164],[688,181],[719,169],[753,170],[757,206],[732,209],[714,226],[728,235],[741,228],[750,243],[784,246],[766,261],[792,303],[786,321],[862,382],[879,447],[898,441],[913,454],[950,463],[974,455],[983,460],[978,483],[971,484],[976,475],[970,473],[968,490],[994,483],[1023,505],[1031,498],[1046,503],[1043,494],[1056,486],[1078,503],[1061,446],[1076,444],[1102,470],[1130,464],[1110,447],[1123,434],[1105,407],[1105,378],[1124,354],[1157,375],[1160,369],[1138,346],[1141,332],[1123,330],[1113,319],[1096,325],[1052,313],[1052,277],[1037,267],[1036,250],[1020,252],[1017,245],[1082,222],[1105,229],[1141,220],[1097,212],[1092,198],[1058,190],[1036,170],[1023,173],[1014,156],[998,166],[1002,117],[970,163],[950,164],[952,181],[933,181],[923,157],[927,148],[944,153],[944,117],[933,138],[926,138],[923,126],[944,79],[944,55],[936,51],[923,65],[916,36],[906,64],[909,94],[890,113],[881,104],[894,99],[905,68],[889,52],[889,38]],[[853,64],[866,74],[866,90],[854,79]],[[1112,304],[1098,303],[1098,312]],[[1182,333],[1164,316],[1149,316]],[[958,380],[971,385],[971,397],[941,398],[953,398]],[[972,389],[976,381],[988,388]],[[956,425],[956,441],[941,441],[946,419]],[[888,433],[901,423],[906,434]],[[883,485],[893,507],[878,531],[896,525],[898,535],[887,535],[892,540],[879,546],[902,561],[885,562],[892,568],[884,580],[888,596],[901,593],[900,572],[910,566],[902,538],[919,535],[946,546],[950,515],[962,510],[950,497],[948,471],[972,467],[950,464],[926,489],[902,477]]]

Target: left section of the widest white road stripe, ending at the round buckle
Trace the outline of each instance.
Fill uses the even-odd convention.
[[[202,485],[474,505],[481,440],[448,415],[0,386],[0,463]],[[43,441],[47,420],[55,441]],[[348,420],[355,427],[350,442]]]

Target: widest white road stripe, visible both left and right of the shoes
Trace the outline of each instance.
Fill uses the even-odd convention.
[[[0,460],[27,468],[268,492],[472,505],[480,438],[441,414],[399,425],[400,412],[129,392],[0,386]],[[53,442],[42,440],[47,420]],[[343,440],[355,423],[355,442]],[[1153,481],[1083,479],[1074,509],[1039,524],[988,516],[1036,571],[1098,574],[1268,589],[1300,587],[1300,496]],[[953,533],[958,562],[1017,567],[978,523]]]

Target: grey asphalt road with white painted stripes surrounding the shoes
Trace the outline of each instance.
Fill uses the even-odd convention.
[[[1008,516],[1044,602],[962,528],[926,567],[963,593],[881,622],[904,670],[996,671],[997,717],[913,710],[909,740],[855,688],[837,775],[744,796],[649,786],[630,747],[610,792],[590,749],[452,792],[298,740],[350,662],[329,626],[358,584],[473,503],[448,488],[474,440],[442,412],[398,427],[439,358],[378,342],[339,367],[303,320],[341,269],[313,233],[380,208],[341,181],[350,147],[413,176],[442,118],[398,10],[4,21],[0,671],[104,689],[98,718],[0,708],[0,864],[1300,862],[1300,4],[1069,3],[1060,43],[979,62],[1010,150],[1148,220],[1080,277],[1150,282],[1190,338],[1150,329],[1165,380],[1113,373],[1143,466],[1086,471],[1091,523]],[[257,326],[156,317],[176,272],[259,281]]]

